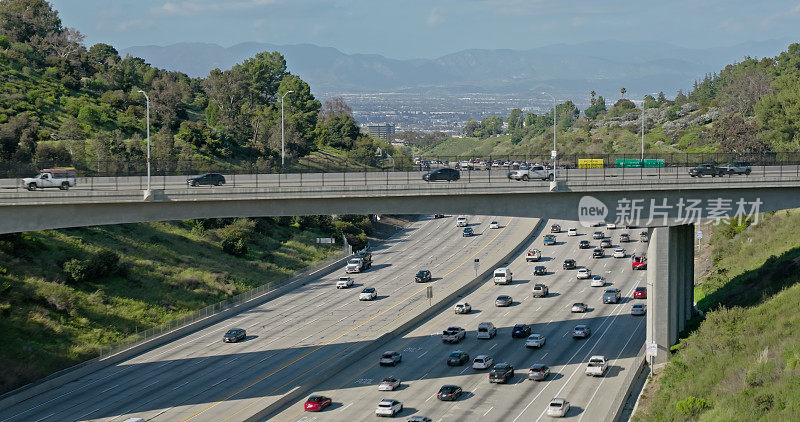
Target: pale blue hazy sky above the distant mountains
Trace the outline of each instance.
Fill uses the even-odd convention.
[[[258,41],[434,58],[592,40],[800,40],[800,0],[51,0],[86,44]]]

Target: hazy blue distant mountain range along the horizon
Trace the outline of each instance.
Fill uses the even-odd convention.
[[[704,74],[744,57],[775,56],[790,41],[768,40],[729,47],[690,49],[661,42],[593,41],[555,44],[531,50],[463,50],[436,59],[397,60],[377,54],[345,54],[312,44],[247,42],[232,47],[206,43],[137,46],[122,54],[152,65],[202,77],[228,69],[260,51],[279,51],[294,74],[317,96],[346,93],[514,94],[549,90],[564,97],[586,97],[590,90],[631,96],[664,91],[674,96]],[[616,97],[614,97],[616,98]]]

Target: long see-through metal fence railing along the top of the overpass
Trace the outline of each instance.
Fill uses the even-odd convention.
[[[503,156],[424,156],[393,160],[390,157],[340,157],[317,154],[289,159],[281,167],[280,159],[219,162],[210,160],[153,160],[151,186],[168,188],[186,186],[186,179],[202,173],[221,173],[226,186],[273,186],[318,184],[408,184],[420,183],[422,175],[437,168],[461,172],[463,183],[508,182],[511,170],[527,165],[551,166],[549,153]],[[747,162],[748,177],[786,180],[800,179],[800,152],[763,153],[647,153],[640,154],[566,154],[557,159],[559,180],[675,179],[689,177],[689,169],[709,163],[724,166]],[[84,162],[0,162],[0,188],[22,189],[21,179],[33,177],[40,169],[75,167],[78,189],[130,190],[147,186],[147,166],[138,161],[94,160]]]

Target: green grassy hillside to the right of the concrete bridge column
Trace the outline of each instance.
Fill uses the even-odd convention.
[[[798,420],[798,227],[790,210],[715,229],[715,265],[697,289],[698,306],[714,310],[676,346],[634,420]]]

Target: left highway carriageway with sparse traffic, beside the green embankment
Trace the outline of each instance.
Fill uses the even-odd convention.
[[[499,257],[524,240],[537,220],[471,217],[477,236],[462,238],[455,218],[423,217],[373,250],[372,269],[353,274],[355,285],[338,290],[344,270],[307,283],[228,320],[152,349],[9,408],[0,421],[244,420],[346,351],[368,344],[427,305],[425,285],[413,282],[431,270],[437,294],[474,277],[473,258]],[[363,287],[377,300],[358,301]],[[240,343],[223,343],[229,328],[245,328]]]

